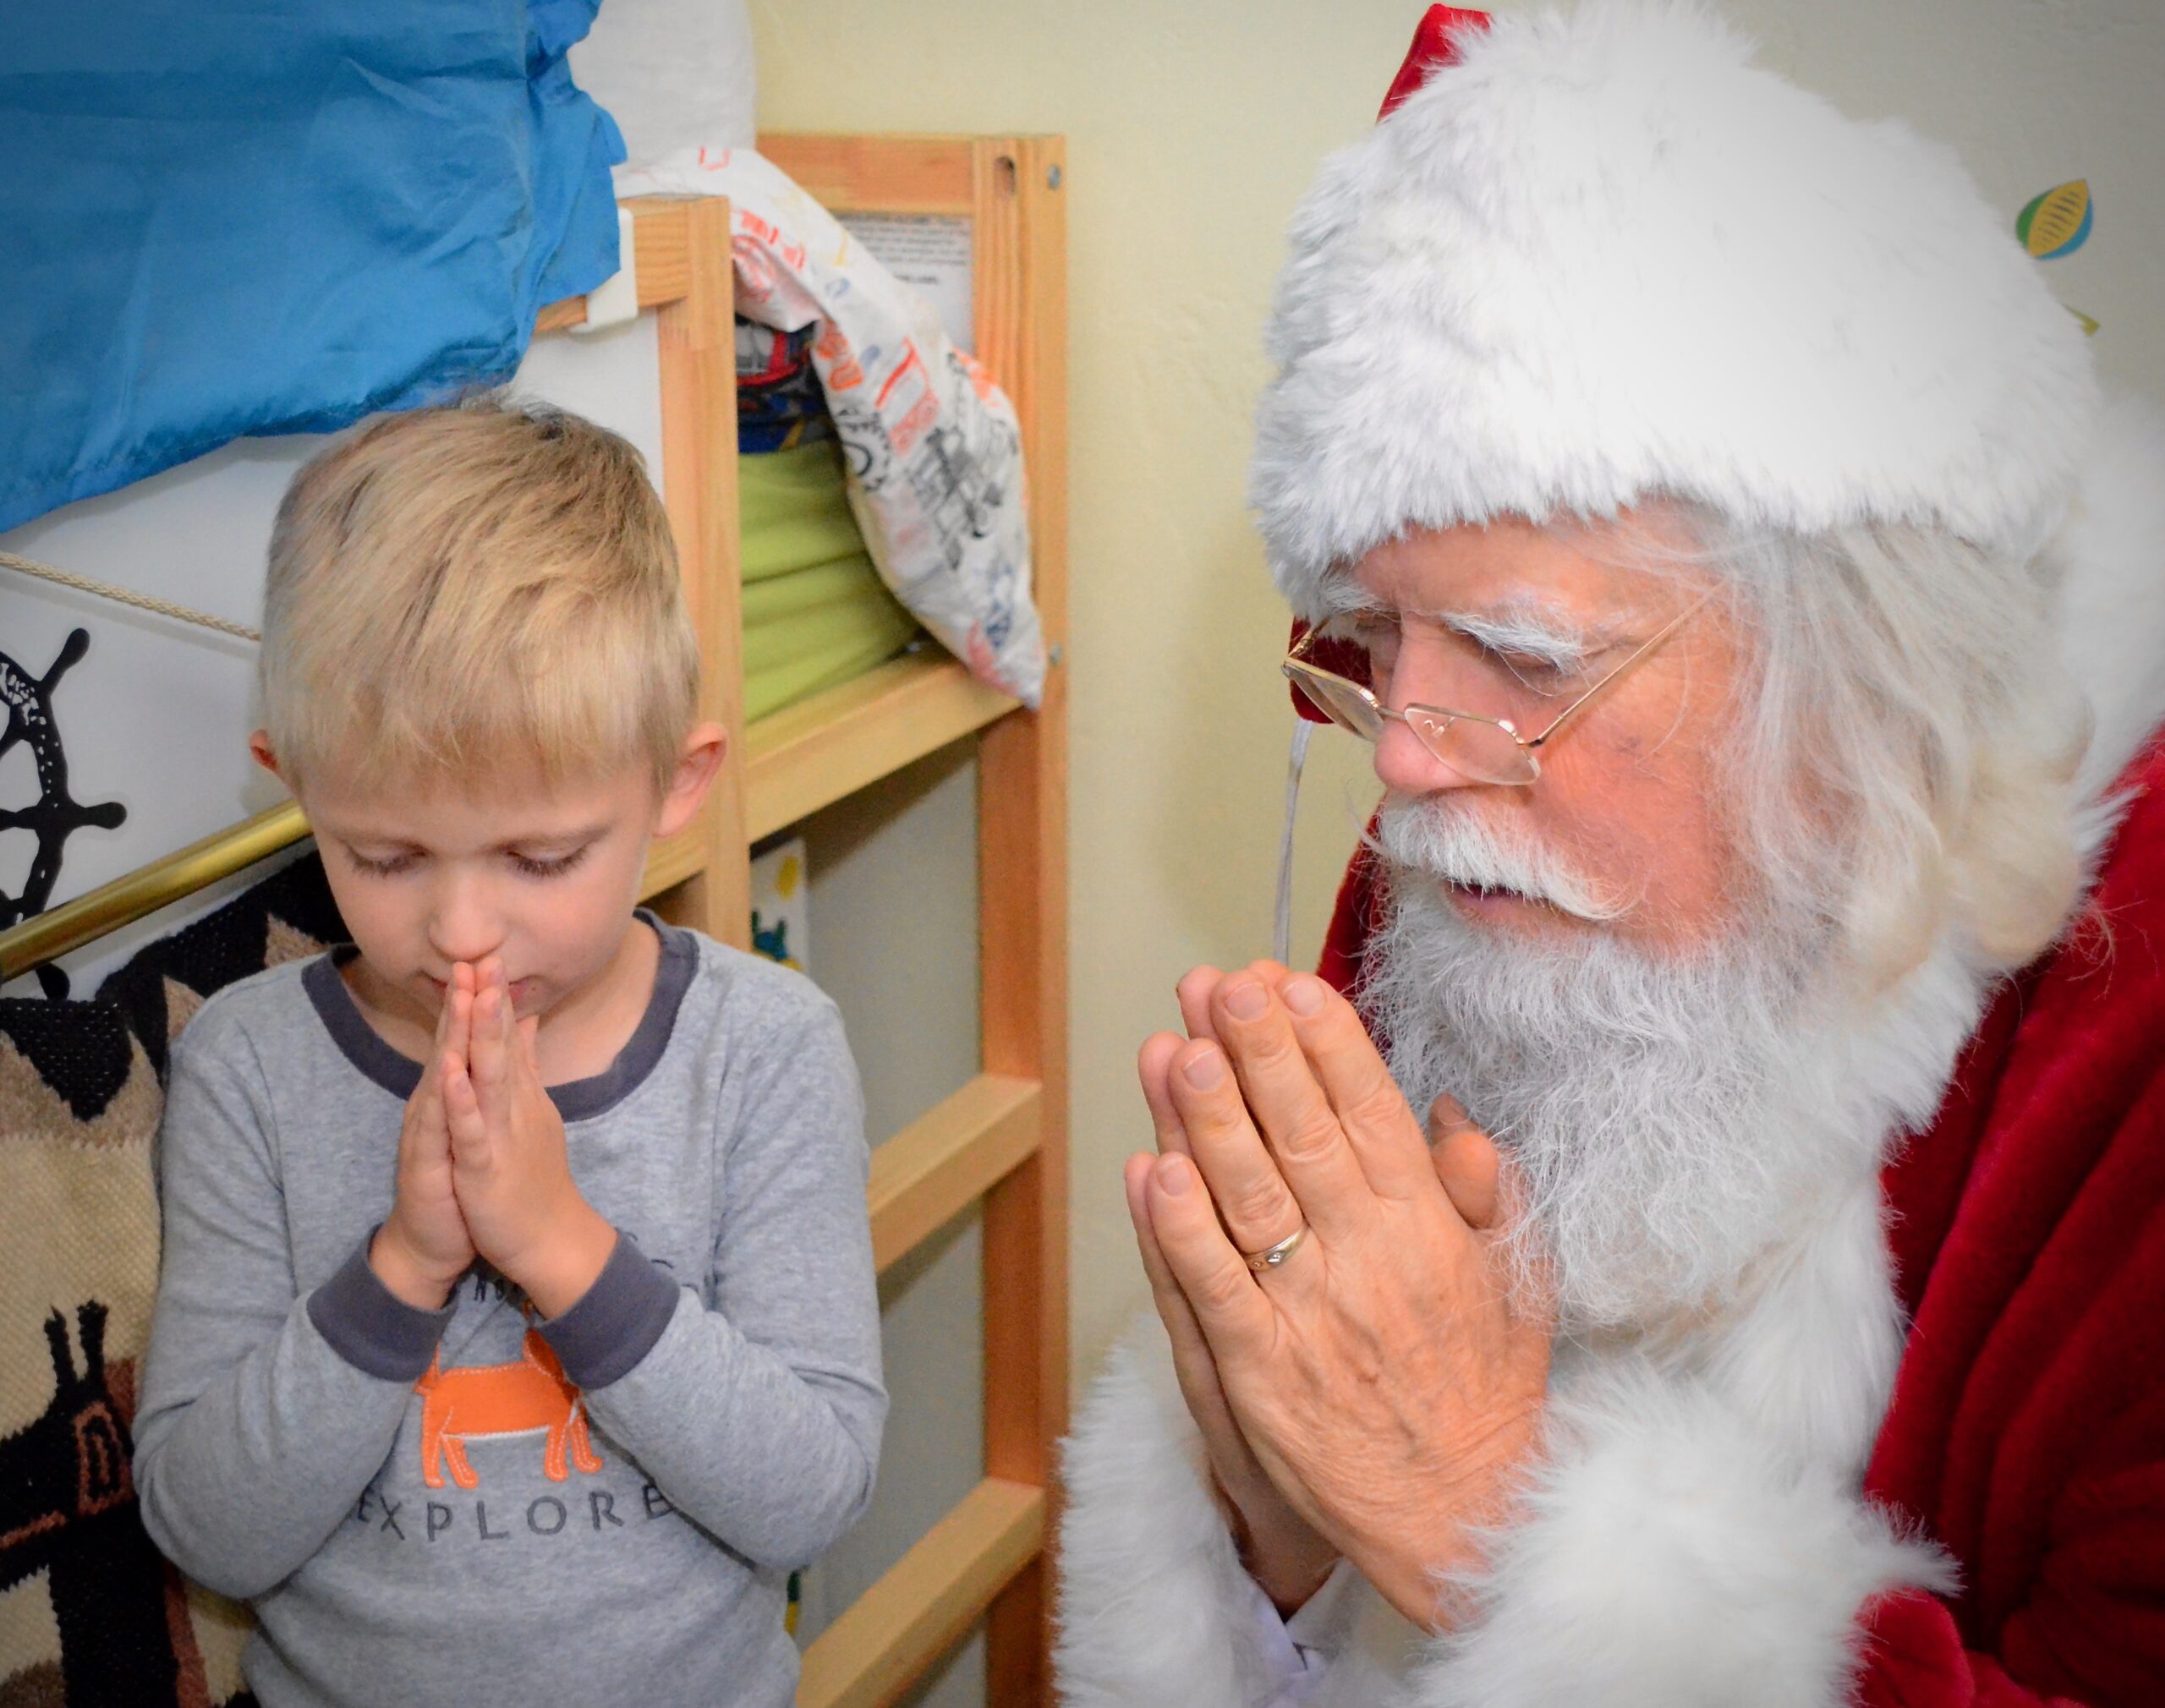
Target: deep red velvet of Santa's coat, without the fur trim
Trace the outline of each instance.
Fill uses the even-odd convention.
[[[1884,1173],[1910,1336],[1864,1489],[1955,1559],[1866,1613],[1871,1708],[2165,1702],[2165,740],[2061,948]],[[1373,870],[1321,972],[1360,974]]]

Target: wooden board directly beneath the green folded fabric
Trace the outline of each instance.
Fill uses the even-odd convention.
[[[745,730],[751,840],[855,794],[1015,706],[948,654],[927,647],[760,719]]]

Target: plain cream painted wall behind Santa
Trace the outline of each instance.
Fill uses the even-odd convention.
[[[753,0],[760,123],[1063,132],[1072,370],[1074,1366],[1145,1301],[1119,1160],[1147,1143],[1141,1037],[1197,961],[1269,948],[1288,712],[1284,613],[1243,507],[1260,327],[1286,216],[1362,132],[1414,0]],[[2050,264],[2109,375],[2165,396],[2161,0],[1730,0],[1764,61],[1855,115],[1957,145],[2009,221],[2089,178]],[[1297,952],[1368,803],[1316,743]]]

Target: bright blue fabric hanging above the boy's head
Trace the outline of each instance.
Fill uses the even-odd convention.
[[[0,4],[0,530],[507,377],[617,271],[598,4]]]

